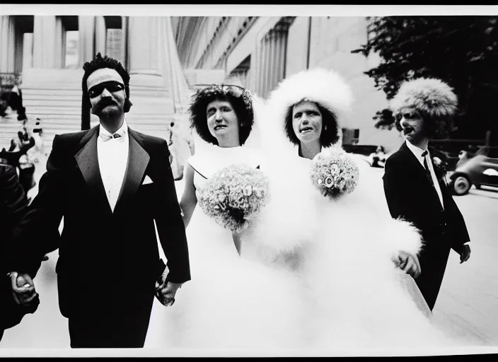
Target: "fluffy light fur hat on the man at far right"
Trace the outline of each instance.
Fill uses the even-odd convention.
[[[398,113],[414,108],[429,117],[451,117],[458,107],[458,100],[448,84],[436,78],[418,78],[403,83],[398,94],[390,101],[390,109]]]

